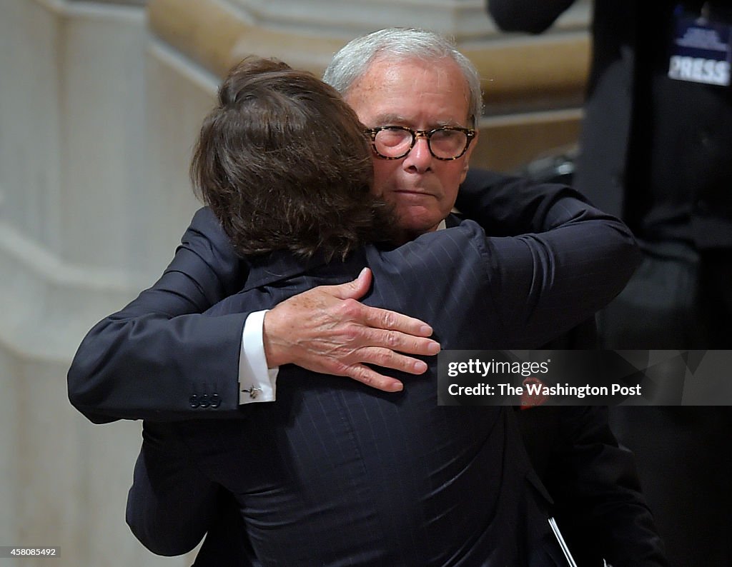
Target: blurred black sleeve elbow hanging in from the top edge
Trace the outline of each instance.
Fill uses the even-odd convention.
[[[540,34],[548,29],[575,0],[487,0],[488,13],[504,31]]]

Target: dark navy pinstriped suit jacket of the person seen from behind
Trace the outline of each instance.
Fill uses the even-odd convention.
[[[578,202],[561,216],[545,235],[485,239],[464,222],[395,250],[366,247],[338,265],[273,255],[209,315],[271,307],[368,265],[375,283],[365,302],[427,320],[443,348],[531,348],[585,320],[635,265],[618,223]],[[239,540],[264,564],[561,564],[511,410],[438,408],[436,361],[428,362],[396,395],[283,367],[277,402],[243,418],[147,423],[132,529],[153,549],[182,552],[211,521],[215,500],[206,496],[223,487],[245,520]],[[173,529],[175,498],[165,517],[148,514],[171,486],[190,495],[179,500],[200,520],[186,522],[190,532]],[[179,541],[151,541],[160,533]]]

